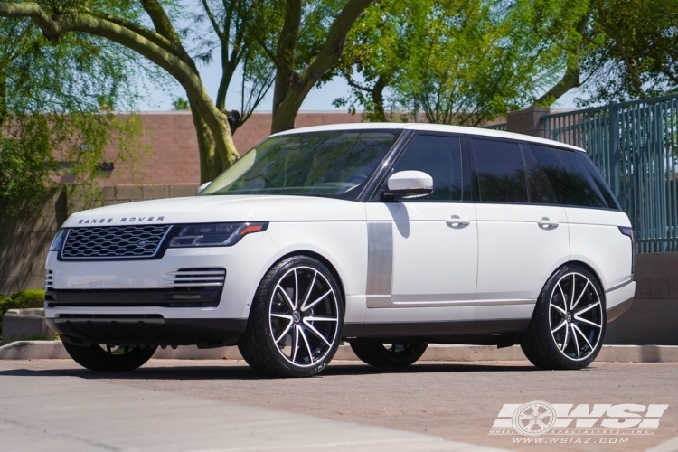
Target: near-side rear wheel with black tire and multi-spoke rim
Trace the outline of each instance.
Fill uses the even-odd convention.
[[[566,265],[541,289],[521,348],[540,369],[583,369],[598,356],[606,323],[605,293],[598,278],[587,268]]]

